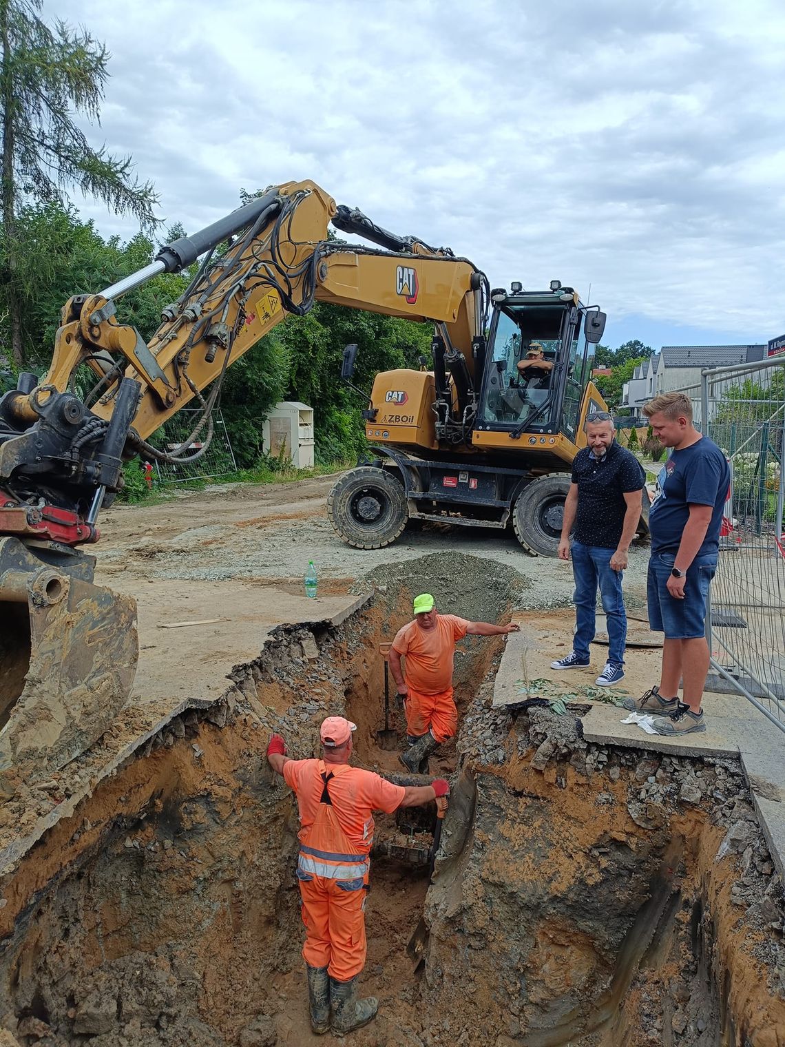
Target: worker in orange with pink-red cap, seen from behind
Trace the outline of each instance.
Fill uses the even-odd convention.
[[[379,775],[352,767],[352,732],[342,716],[328,716],[320,729],[320,760],[291,760],[279,734],[267,759],[297,796],[299,857],[311,1028],[343,1037],[367,1024],[379,1009],[369,996],[357,999],[365,965],[365,891],[374,842],[375,810],[390,815],[447,796],[443,778],[431,785],[394,785]]]

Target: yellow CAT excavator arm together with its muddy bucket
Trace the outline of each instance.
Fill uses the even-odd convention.
[[[330,240],[331,222],[378,246]],[[122,294],[200,258],[149,343],[117,321]],[[62,766],[129,697],[135,605],[95,586],[94,558],[76,548],[98,539],[97,515],[121,489],[124,462],[203,453],[226,371],[315,302],[432,321],[436,413],[449,422],[475,397],[487,300],[487,280],[470,262],[337,207],[310,181],[268,190],[139,272],[70,298],[46,376],[21,375],[0,399],[0,777],[23,762],[38,774]],[[84,366],[94,383],[81,397]],[[201,420],[179,447],[148,443],[195,399]]]

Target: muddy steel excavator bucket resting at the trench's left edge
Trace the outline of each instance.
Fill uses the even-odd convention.
[[[94,558],[0,539],[0,777],[32,782],[90,748],[131,693],[136,602]]]

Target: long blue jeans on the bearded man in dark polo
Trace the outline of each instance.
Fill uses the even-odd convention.
[[[613,571],[610,558],[615,550],[600,545],[584,545],[573,541],[573,575],[575,577],[576,633],[573,650],[588,661],[588,646],[595,639],[597,588],[600,586],[603,610],[608,621],[608,661],[624,665],[627,640],[627,615],[622,595],[622,571]]]

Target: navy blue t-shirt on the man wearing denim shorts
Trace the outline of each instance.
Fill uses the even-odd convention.
[[[657,490],[649,510],[651,552],[677,553],[690,506],[712,506],[712,519],[698,556],[717,553],[722,510],[731,486],[725,455],[708,437],[672,451],[659,470]]]

